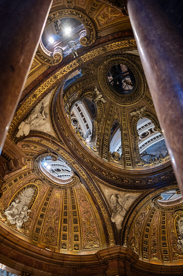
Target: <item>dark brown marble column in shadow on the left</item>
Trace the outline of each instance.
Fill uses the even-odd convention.
[[[0,152],[53,0],[1,0]]]

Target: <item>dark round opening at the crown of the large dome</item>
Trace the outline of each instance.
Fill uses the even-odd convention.
[[[115,64],[107,72],[108,82],[120,94],[129,94],[135,86],[133,72],[124,64]]]

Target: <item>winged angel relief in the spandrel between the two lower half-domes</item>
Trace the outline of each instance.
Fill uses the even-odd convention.
[[[123,197],[120,194],[111,195],[110,203],[113,211],[111,221],[116,223],[118,229],[121,229],[121,222],[134,198],[136,197],[130,194],[125,194]]]

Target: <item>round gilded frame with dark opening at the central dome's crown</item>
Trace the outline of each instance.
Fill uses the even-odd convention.
[[[106,96],[121,105],[137,103],[146,90],[140,67],[123,54],[107,57],[99,66],[98,79]]]

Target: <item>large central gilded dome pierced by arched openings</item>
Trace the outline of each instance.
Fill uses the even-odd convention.
[[[85,166],[119,182],[127,171],[143,177],[171,168],[138,55],[118,51],[94,59],[71,73],[52,99],[55,133]]]

